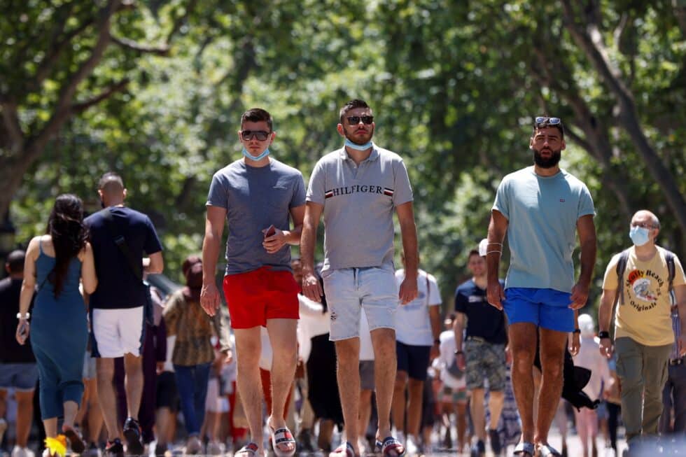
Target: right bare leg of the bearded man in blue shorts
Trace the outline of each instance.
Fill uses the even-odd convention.
[[[547,444],[550,424],[555,416],[562,394],[564,348],[567,334],[555,330],[540,329],[541,384],[536,420],[536,444]]]

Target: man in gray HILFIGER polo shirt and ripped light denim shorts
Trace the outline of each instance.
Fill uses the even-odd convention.
[[[365,310],[374,346],[379,428],[384,456],[401,456],[405,448],[391,436],[390,411],[397,359],[393,313],[417,295],[417,241],[412,188],[400,156],[372,143],[374,118],[362,100],[340,111],[338,133],[345,146],[321,158],[307,189],[302,230],[302,289],[311,300],[323,291],[314,275],[314,245],[324,216],[324,291],[330,310],[330,339],[338,358],[337,379],[346,442],[331,457],[359,454],[357,430],[360,400],[358,372],[360,311]],[[398,214],[406,275],[395,285],[393,212]]]

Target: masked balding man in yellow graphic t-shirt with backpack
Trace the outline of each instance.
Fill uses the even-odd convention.
[[[686,324],[686,277],[676,255],[655,244],[660,223],[650,211],[631,218],[631,248],[612,257],[605,270],[598,310],[600,351],[617,353],[622,417],[629,452],[641,435],[657,435],[662,414],[662,389],[674,343],[671,293]],[[614,311],[614,312],[613,312]],[[615,318],[614,344],[610,320]],[[686,337],[676,342],[679,357],[686,354]]]

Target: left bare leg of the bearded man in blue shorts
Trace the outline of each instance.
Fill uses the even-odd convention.
[[[536,351],[536,326],[518,322],[510,325],[512,350],[512,390],[521,417],[521,441],[533,442],[533,358]]]

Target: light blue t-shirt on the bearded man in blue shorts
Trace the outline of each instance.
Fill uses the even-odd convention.
[[[538,176],[526,167],[503,178],[493,209],[507,218],[510,269],[505,288],[550,288],[571,292],[576,223],[595,213],[591,193],[560,170]]]

